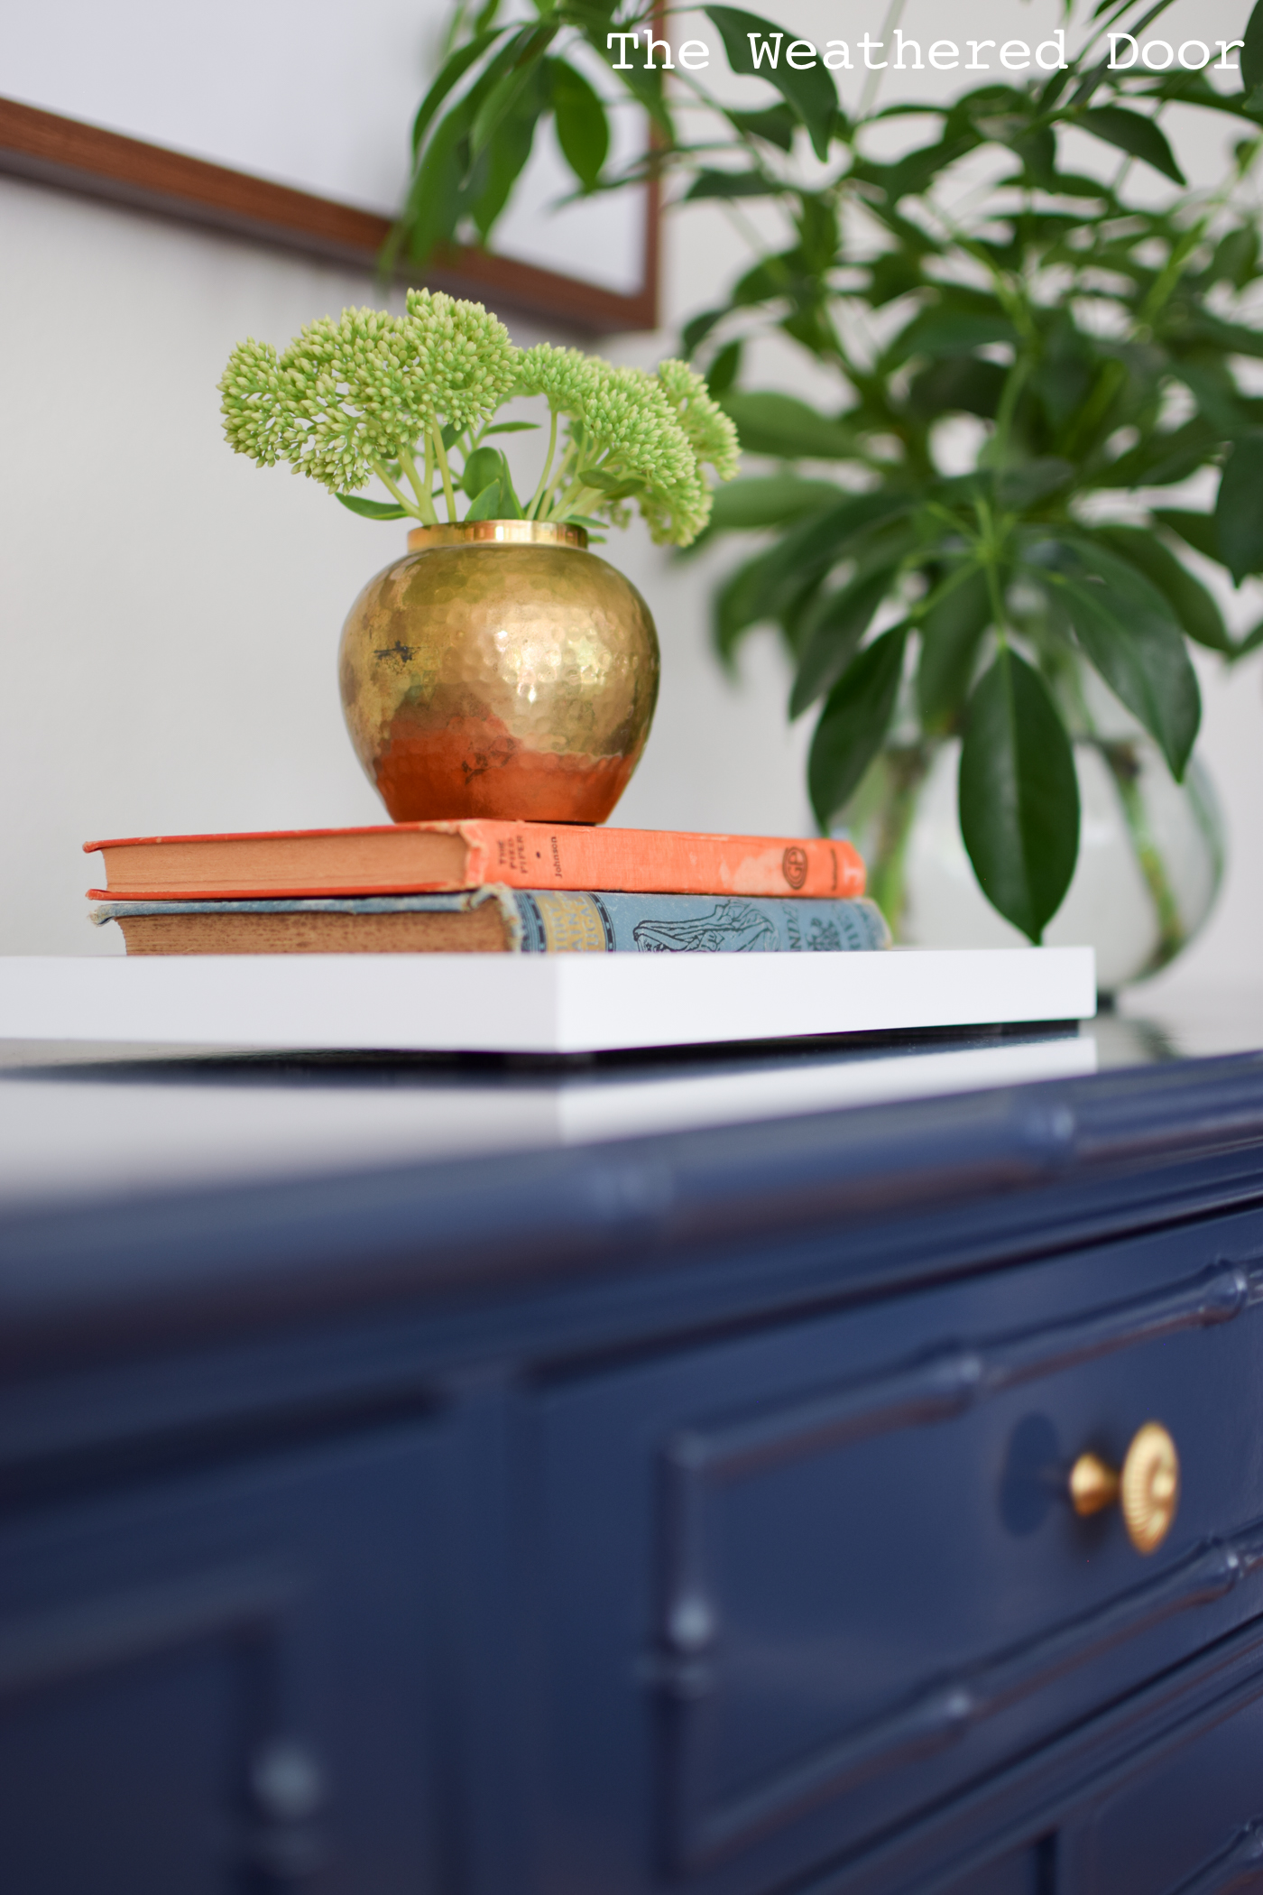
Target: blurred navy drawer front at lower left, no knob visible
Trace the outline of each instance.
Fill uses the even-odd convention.
[[[0,1518],[6,1895],[437,1886],[434,1429]]]

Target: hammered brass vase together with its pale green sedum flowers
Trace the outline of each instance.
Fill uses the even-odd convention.
[[[737,434],[703,379],[517,349],[479,303],[411,290],[401,316],[345,309],[280,354],[240,343],[220,388],[237,453],[415,521],[352,605],[339,661],[390,817],[602,822],[644,750],[659,652],[644,599],[587,542],[631,500],[661,542],[704,529],[704,470],[735,474]],[[513,398],[547,404],[526,498],[498,443],[543,424],[496,419]],[[362,493],[373,478],[388,498]]]

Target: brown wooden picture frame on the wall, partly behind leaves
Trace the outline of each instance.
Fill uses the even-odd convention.
[[[165,146],[0,99],[0,172],[129,205],[273,248],[377,269],[390,220],[331,197],[186,157]],[[417,277],[434,290],[490,301],[587,335],[655,330],[659,322],[657,184],[646,186],[642,280],[632,294],[487,250],[445,248]]]

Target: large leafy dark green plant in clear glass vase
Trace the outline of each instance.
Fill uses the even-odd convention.
[[[1163,4],[1121,0],[1062,59],[1070,19],[1045,70],[1028,59],[1024,78],[1000,70],[954,100],[884,110],[877,72],[843,74],[860,95],[845,110],[822,57],[771,57],[776,34],[793,34],[733,8],[704,13],[767,102],[731,108],[693,74],[668,95],[659,59],[634,81],[617,74],[653,117],[646,159],[591,172],[604,150],[591,133],[587,180],[572,163],[583,190],[657,171],[674,201],[776,212],[780,239],[756,237],[750,267],[684,330],[744,451],[767,460],[718,496],[697,542],[761,536],[716,595],[718,648],[731,661],[752,627],[780,629],[790,714],[816,716],[816,815],[858,834],[905,940],[945,938],[951,902],[935,913],[922,874],[943,813],[962,870],[968,851],[987,900],[1034,942],[1104,824],[1115,855],[1089,917],[1104,984],[1153,970],[1218,881],[1214,809],[1191,762],[1189,646],[1231,663],[1263,641],[1263,627],[1233,639],[1199,578],[1199,563],[1236,584],[1263,572],[1263,402],[1240,366],[1263,356],[1250,186],[1263,6],[1240,72],[1242,42],[1153,42],[1166,51],[1140,57]],[[644,9],[619,30],[648,23]],[[496,28],[492,9],[479,32],[477,45],[456,34],[422,108],[396,252],[424,254],[432,231],[468,235],[470,207],[483,235],[492,227],[485,153],[500,153],[502,205],[528,150],[515,100],[530,70],[576,144],[574,89],[555,63],[566,34],[598,45],[589,13],[542,8],[532,40],[519,23]],[[863,66],[858,51],[848,63]],[[1172,106],[1235,133],[1210,190],[1185,184]],[[881,155],[899,119],[909,148]],[[1076,138],[1104,163],[1076,157]],[[958,201],[964,165],[983,167],[987,188]],[[746,345],[769,332],[814,364],[814,404],[744,387]]]

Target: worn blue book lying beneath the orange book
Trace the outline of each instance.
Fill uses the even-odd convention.
[[[473,925],[492,913],[496,929],[479,927],[475,934]],[[337,923],[337,932],[316,929],[324,917]],[[890,946],[881,910],[863,898],[606,894],[490,885],[464,894],[106,902],[93,910],[98,925],[117,921],[123,927],[131,953],[214,953],[216,934],[223,951],[250,951],[246,929],[254,929],[261,953],[373,951],[386,946],[379,927],[384,917],[415,917],[411,938],[407,932],[394,936],[396,951],[422,953],[460,951],[462,940],[453,927],[441,932],[434,927],[443,917],[470,923],[471,951],[500,953],[845,953]],[[161,927],[153,940],[163,946],[146,942],[146,923]],[[182,934],[197,946],[180,946]],[[356,940],[364,948],[356,949]]]

